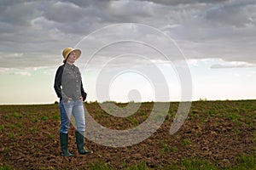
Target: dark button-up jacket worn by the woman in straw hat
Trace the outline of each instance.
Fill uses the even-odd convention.
[[[68,98],[79,99],[80,96],[84,101],[87,96],[79,67],[68,63],[61,65],[56,71],[54,88],[57,96],[64,102],[67,102]]]

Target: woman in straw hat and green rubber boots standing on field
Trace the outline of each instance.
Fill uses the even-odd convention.
[[[79,59],[81,51],[79,49],[65,48],[62,52],[63,63],[55,74],[55,93],[60,98],[59,109],[61,113],[61,156],[73,156],[68,151],[68,129],[70,126],[70,118],[73,114],[76,124],[76,143],[79,154],[86,155],[92,153],[84,149],[84,105],[86,99],[84,92],[82,77],[79,68],[73,63]]]

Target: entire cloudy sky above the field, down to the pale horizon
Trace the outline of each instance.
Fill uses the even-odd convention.
[[[255,0],[2,0],[0,104],[57,100],[68,46],[88,101],[256,98]]]

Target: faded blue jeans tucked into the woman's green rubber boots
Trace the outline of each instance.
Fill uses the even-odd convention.
[[[72,99],[64,103],[61,99],[59,109],[61,113],[60,133],[68,133],[72,114],[75,118],[77,131],[85,131],[84,105],[81,100]]]

